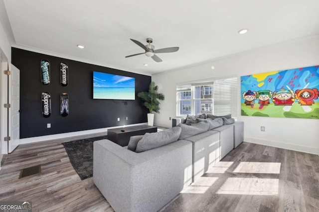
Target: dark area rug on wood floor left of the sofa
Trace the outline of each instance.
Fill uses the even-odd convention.
[[[81,180],[93,176],[93,142],[102,139],[107,136],[62,143]]]

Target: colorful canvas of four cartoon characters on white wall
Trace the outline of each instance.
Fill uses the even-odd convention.
[[[319,119],[319,66],[241,76],[241,115]]]

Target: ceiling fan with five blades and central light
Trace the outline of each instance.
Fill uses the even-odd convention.
[[[156,62],[162,62],[162,60],[155,54],[158,53],[170,53],[170,52],[177,52],[179,47],[169,47],[169,48],[164,48],[164,49],[157,49],[155,50],[155,47],[153,45],[151,45],[151,43],[153,42],[152,38],[147,38],[146,42],[148,42],[149,44],[147,45],[143,45],[140,41],[137,40],[133,40],[131,39],[131,41],[133,41],[134,43],[136,43],[137,45],[139,45],[142,49],[145,50],[145,53],[139,53],[139,54],[135,54],[135,55],[129,55],[126,56],[126,58],[129,57],[133,57],[133,56],[137,56],[137,55],[142,55],[145,54],[148,57],[151,57],[154,61]]]

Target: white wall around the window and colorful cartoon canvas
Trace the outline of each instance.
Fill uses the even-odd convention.
[[[176,116],[176,84],[207,78],[281,71],[319,65],[319,36],[294,40],[231,55],[210,62],[152,75],[165,95],[155,125],[171,127]],[[215,70],[210,67],[214,66]],[[319,120],[240,116],[238,80],[238,121],[245,122],[245,141],[319,154]],[[265,132],[260,127],[265,127]]]

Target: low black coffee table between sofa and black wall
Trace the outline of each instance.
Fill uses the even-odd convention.
[[[108,130],[108,140],[121,146],[129,144],[131,136],[144,135],[146,133],[156,133],[158,128],[149,125],[137,125],[132,127],[114,128]]]

